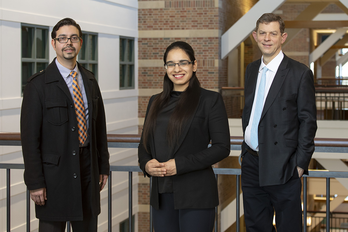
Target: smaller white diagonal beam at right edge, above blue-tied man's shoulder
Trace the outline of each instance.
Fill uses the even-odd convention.
[[[337,29],[335,33],[332,33],[322,42],[314,51],[309,55],[309,63],[315,62],[321,57],[327,50],[339,40],[342,35],[346,34],[347,28]]]

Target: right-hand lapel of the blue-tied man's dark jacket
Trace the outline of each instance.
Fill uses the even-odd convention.
[[[282,62],[280,62],[277,73],[276,73],[276,75],[273,79],[273,82],[271,84],[271,87],[268,91],[266,101],[265,101],[264,106],[263,106],[260,121],[262,120],[262,118],[266,114],[266,112],[268,111],[269,107],[274,102],[275,98],[277,97],[277,95],[279,93],[280,88],[282,87],[282,85],[284,83],[286,75],[289,71],[289,68],[286,68],[288,61],[289,61],[289,58],[284,54],[284,58],[283,58]]]

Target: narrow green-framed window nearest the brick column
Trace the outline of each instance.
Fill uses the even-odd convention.
[[[134,89],[134,38],[120,38],[120,89]]]

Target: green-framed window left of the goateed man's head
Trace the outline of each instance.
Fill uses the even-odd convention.
[[[48,65],[48,27],[22,23],[22,93],[28,78]]]

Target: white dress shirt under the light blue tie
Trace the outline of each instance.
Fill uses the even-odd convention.
[[[255,104],[256,104],[256,98],[258,96],[258,91],[259,91],[259,85],[260,85],[260,81],[261,81],[261,77],[262,77],[262,69],[264,66],[267,67],[267,72],[266,72],[266,85],[264,88],[264,96],[263,96],[263,104],[262,104],[262,109],[264,106],[264,102],[266,101],[267,95],[268,95],[268,91],[271,88],[273,79],[276,75],[276,72],[278,70],[278,67],[280,65],[280,63],[282,62],[284,58],[284,54],[282,52],[282,50],[280,50],[279,54],[274,57],[271,62],[269,62],[267,65],[263,63],[263,56],[261,58],[261,65],[259,67],[259,74],[258,74],[258,80],[256,82],[256,89],[255,89],[255,97],[254,97],[254,102],[253,102],[253,107],[251,109],[251,114],[250,114],[250,120],[249,120],[249,124],[245,129],[245,133],[244,133],[244,140],[246,142],[246,144],[248,144],[248,146],[255,150],[255,151],[259,151],[259,146],[258,147],[253,147],[251,145],[251,140],[250,140],[250,134],[251,134],[251,125],[253,124],[253,119],[254,119],[254,113],[255,113]]]

